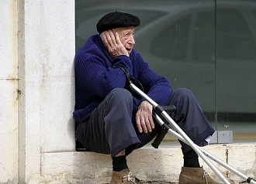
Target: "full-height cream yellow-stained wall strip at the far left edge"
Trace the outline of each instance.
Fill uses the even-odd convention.
[[[0,183],[17,183],[18,49],[16,0],[0,1]]]

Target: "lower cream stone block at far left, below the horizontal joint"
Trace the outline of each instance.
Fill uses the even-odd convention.
[[[18,175],[17,80],[0,80],[0,183]]]

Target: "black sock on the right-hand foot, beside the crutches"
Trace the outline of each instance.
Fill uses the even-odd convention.
[[[199,155],[192,149],[184,154],[184,167],[199,168]]]

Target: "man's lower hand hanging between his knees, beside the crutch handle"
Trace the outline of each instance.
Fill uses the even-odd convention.
[[[141,102],[136,114],[137,128],[142,133],[151,132],[154,128],[154,121],[152,118],[153,107],[147,101]]]

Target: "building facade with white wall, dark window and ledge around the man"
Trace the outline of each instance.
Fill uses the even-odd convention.
[[[147,5],[145,1],[137,2],[140,3],[78,0],[0,2],[0,183],[109,181],[112,170],[109,155],[75,151],[73,61],[75,50],[85,42],[87,36],[96,33],[95,22],[99,17],[116,9],[130,11],[141,17],[143,23],[137,29],[136,49],[145,56],[150,66],[168,77],[174,88],[191,88],[217,130],[232,130],[238,136],[235,140],[239,143],[210,145],[207,149],[255,177],[256,94],[253,90],[256,88],[256,74],[252,70],[256,57],[250,48],[255,50],[256,39],[253,33],[237,36],[231,32],[238,28],[244,28],[242,32],[254,30],[255,19],[249,18],[255,17],[255,9],[240,10],[239,15],[247,18],[245,26],[230,27],[234,26],[234,22],[231,22],[225,28],[227,30],[218,32],[217,19],[223,26],[226,25],[226,19],[230,20],[229,16],[235,16],[236,22],[244,20],[236,14],[236,9],[228,15],[223,12],[232,1],[224,3],[223,8],[219,9],[220,14],[216,14],[218,3],[215,2],[218,1],[212,4],[206,3],[210,1],[180,1],[182,4],[176,6],[168,4],[170,1],[157,1],[158,5],[153,1],[148,1]],[[250,3],[240,7],[245,10],[247,6],[254,8],[254,4]],[[236,2],[232,7],[237,5],[239,3]],[[207,18],[207,21],[202,18]],[[168,24],[168,20],[173,22]],[[188,20],[190,22],[186,22]],[[208,26],[205,28],[202,25]],[[170,35],[164,30],[173,31]],[[226,44],[228,39],[217,39],[226,38],[221,37],[225,34],[231,36],[230,40],[240,38],[237,42],[244,47],[237,47],[236,52],[234,42]],[[185,36],[188,39],[182,41]],[[201,39],[195,39],[195,36]],[[168,39],[174,41],[179,49],[166,45]],[[167,43],[162,45],[164,41]],[[152,43],[155,43],[153,50]],[[182,53],[183,49],[185,53]],[[240,49],[243,49],[242,53],[238,52]],[[218,56],[222,56],[221,60],[232,60],[218,63]],[[242,56],[246,60],[240,60]],[[170,67],[172,60],[177,62],[174,67]],[[185,60],[189,60],[189,63],[185,63]],[[244,118],[247,118],[246,121]],[[244,135],[249,137],[244,138]],[[181,155],[177,145],[160,149],[147,147],[130,155],[128,162],[131,169],[145,181],[176,182],[182,165]],[[141,165],[137,165],[137,158],[142,159]],[[241,164],[243,162],[247,164]],[[225,169],[221,171],[239,181]]]

